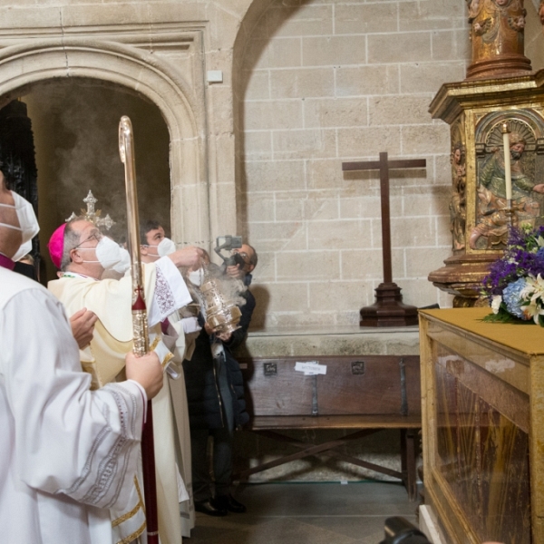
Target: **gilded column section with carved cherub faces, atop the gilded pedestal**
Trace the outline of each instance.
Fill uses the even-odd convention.
[[[529,71],[523,54],[523,0],[467,0],[471,24],[471,77]]]

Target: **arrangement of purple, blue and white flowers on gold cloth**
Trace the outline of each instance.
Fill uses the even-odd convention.
[[[544,326],[544,227],[511,228],[504,257],[483,278],[493,313],[484,321]]]

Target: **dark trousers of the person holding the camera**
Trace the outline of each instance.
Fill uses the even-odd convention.
[[[232,475],[232,432],[228,429],[199,429],[190,432],[192,456],[192,478],[194,500],[212,497],[212,481],[209,471],[208,437],[213,440],[212,467],[215,481],[215,496],[230,493]]]

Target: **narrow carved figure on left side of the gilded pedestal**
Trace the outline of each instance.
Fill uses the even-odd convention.
[[[452,162],[452,199],[450,201],[450,230],[452,231],[453,250],[465,247],[465,222],[467,218],[466,202],[466,165],[465,146],[461,141],[456,141],[450,157]]]

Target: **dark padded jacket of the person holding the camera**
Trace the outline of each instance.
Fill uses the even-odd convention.
[[[246,339],[255,308],[255,297],[249,290],[242,296],[246,298],[246,304],[240,307],[242,313],[240,328],[232,333],[228,342],[223,343],[229,398],[224,398],[226,395],[219,393],[219,381],[210,348],[214,338],[208,335],[203,326],[203,319],[199,317],[202,330],[197,338],[195,350],[190,361],[188,359],[183,361],[191,429],[220,429],[227,426],[223,403],[231,403],[232,405],[233,426],[238,427],[249,421],[242,373],[238,361],[231,352]]]

